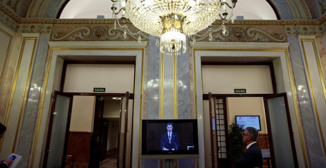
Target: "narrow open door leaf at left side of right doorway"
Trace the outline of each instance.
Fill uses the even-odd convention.
[[[215,98],[211,93],[208,93],[209,102],[209,118],[210,118],[210,147],[213,168],[218,168],[218,143],[217,143],[217,128],[216,128],[216,112],[215,112]]]

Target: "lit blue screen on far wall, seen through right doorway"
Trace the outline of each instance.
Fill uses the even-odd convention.
[[[236,124],[244,125],[244,129],[248,126],[261,130],[259,116],[236,116]]]

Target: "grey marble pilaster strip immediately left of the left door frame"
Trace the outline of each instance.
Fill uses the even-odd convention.
[[[33,135],[37,130],[35,123],[38,120],[38,107],[41,96],[41,85],[44,75],[45,61],[47,55],[47,42],[50,39],[49,34],[41,34],[39,44],[37,47],[37,53],[35,57],[33,73],[29,85],[28,96],[26,99],[26,108],[23,112],[21,128],[19,131],[19,138],[17,142],[16,153],[23,156],[17,167],[27,168],[32,155],[34,138]],[[38,135],[38,134],[37,134]],[[37,138],[35,138],[37,139]]]

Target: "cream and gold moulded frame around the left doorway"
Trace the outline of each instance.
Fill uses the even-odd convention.
[[[36,137],[37,140],[34,142],[35,155],[32,156],[31,166],[42,166],[42,157],[44,156],[44,143],[46,139],[46,128],[48,127],[49,120],[49,110],[51,108],[50,102],[53,96],[53,90],[60,89],[59,81],[61,79],[61,74],[63,71],[64,60],[79,60],[79,61],[112,61],[119,60],[121,62],[131,60],[130,57],[135,61],[135,75],[134,75],[134,89],[132,90],[134,95],[133,102],[133,121],[141,120],[141,109],[143,97],[141,97],[142,86],[143,86],[143,70],[144,64],[143,60],[146,58],[146,46],[148,42],[48,42],[49,52],[47,57],[46,76],[43,84],[42,102],[44,104],[40,105],[39,122],[37,127],[40,130],[36,133],[41,135]],[[125,49],[125,46],[128,46]],[[44,128],[44,129],[42,129]],[[140,136],[138,131],[140,130],[140,125],[133,123],[133,141],[132,141],[132,167],[137,167],[139,165],[138,159],[140,155],[138,153],[138,142],[140,141]],[[43,142],[43,143],[40,143]],[[36,156],[41,156],[38,158]]]

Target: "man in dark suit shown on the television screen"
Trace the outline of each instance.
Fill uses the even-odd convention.
[[[179,149],[179,138],[178,134],[172,132],[172,123],[166,124],[167,132],[162,134],[161,138],[161,149],[166,150],[178,150]]]

